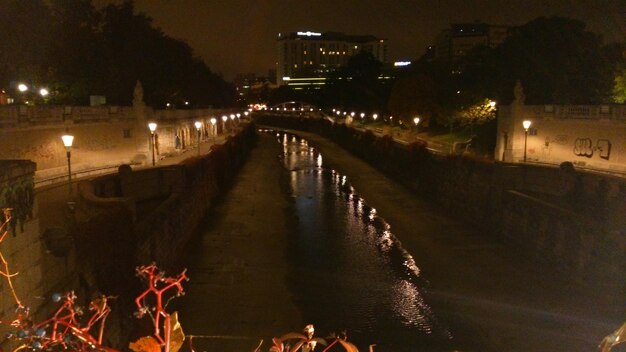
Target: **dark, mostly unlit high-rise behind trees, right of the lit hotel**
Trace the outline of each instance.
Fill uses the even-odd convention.
[[[437,37],[435,58],[453,60],[465,55],[478,45],[494,48],[504,42],[508,31],[508,26],[495,26],[481,22],[452,24]]]

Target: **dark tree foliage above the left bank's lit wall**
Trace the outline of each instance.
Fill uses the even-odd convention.
[[[96,9],[91,0],[0,2],[0,87],[45,85],[51,101],[85,104],[104,95],[128,105],[137,81],[152,106],[224,106],[235,91],[194,56],[135,13],[132,1]]]

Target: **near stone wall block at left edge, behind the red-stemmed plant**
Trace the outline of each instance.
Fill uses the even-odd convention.
[[[73,257],[59,258],[51,253],[58,244],[51,233],[42,235],[39,229],[39,212],[34,191],[35,163],[30,160],[0,160],[0,223],[6,220],[3,209],[10,208],[11,221],[0,242],[0,252],[8,267],[2,272],[14,275],[0,276],[0,336],[2,348],[5,336],[13,328],[9,322],[16,317],[16,297],[30,309],[30,316],[39,319],[49,311],[49,297],[60,284],[75,279]],[[15,347],[15,346],[14,346]],[[12,350],[12,349],[9,349]]]

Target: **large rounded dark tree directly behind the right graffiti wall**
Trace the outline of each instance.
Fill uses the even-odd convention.
[[[601,38],[586,31],[585,23],[563,17],[540,17],[511,29],[497,49],[500,100],[512,100],[519,79],[529,104],[606,102],[613,68],[601,45]]]

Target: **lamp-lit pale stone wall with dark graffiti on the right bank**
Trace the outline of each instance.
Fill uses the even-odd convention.
[[[532,124],[528,138],[522,126]],[[626,105],[521,105],[498,108],[495,159],[560,164],[626,175]]]

